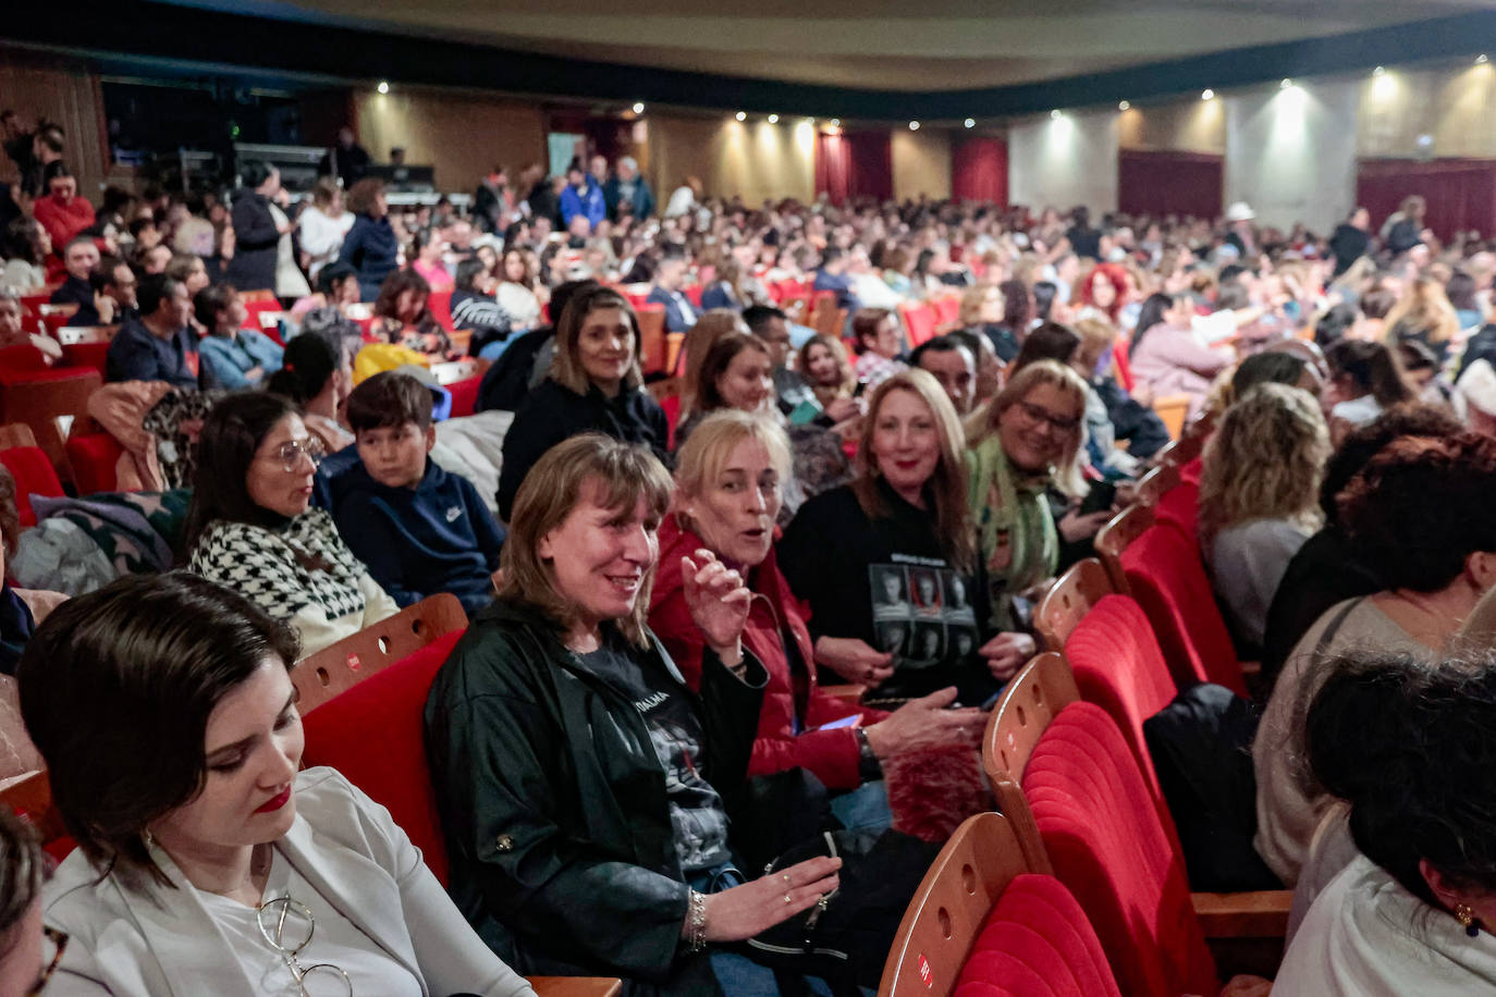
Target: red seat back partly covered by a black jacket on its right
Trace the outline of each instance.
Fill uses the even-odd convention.
[[[1143,720],[1168,706],[1176,688],[1143,610],[1125,595],[1101,596],[1065,641],[1065,658],[1080,698],[1106,710],[1122,731],[1158,804],[1159,821],[1177,842],[1153,759],[1143,740]]]

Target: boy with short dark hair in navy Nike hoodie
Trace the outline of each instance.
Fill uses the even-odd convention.
[[[426,454],[431,393],[396,371],[349,395],[359,460],[331,483],[338,532],[399,605],[450,592],[474,613],[494,598],[504,535],[473,484]]]

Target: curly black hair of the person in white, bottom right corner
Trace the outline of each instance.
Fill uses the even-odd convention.
[[[1330,664],[1305,747],[1319,786],[1351,804],[1355,846],[1439,906],[1420,859],[1457,889],[1496,889],[1493,729],[1496,653],[1427,662],[1369,652]]]

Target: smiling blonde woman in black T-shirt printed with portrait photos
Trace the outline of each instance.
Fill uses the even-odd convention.
[[[998,652],[960,423],[934,375],[902,371],[872,392],[856,468],[850,484],[806,501],[779,543],[779,568],[811,608],[815,662],[872,686],[868,704],[948,686],[960,703],[987,701]]]

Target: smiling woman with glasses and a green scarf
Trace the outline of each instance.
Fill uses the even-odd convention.
[[[1046,492],[1077,501],[1086,493],[1080,444],[1086,384],[1055,360],[1035,360],[1013,374],[992,401],[986,426],[971,445],[971,514],[986,570],[987,623],[1001,631],[987,658],[993,677],[1007,680],[1035,650],[1026,634],[1026,605],[1055,575],[1059,540],[1095,534],[1109,513],[1071,510],[1055,525]]]

